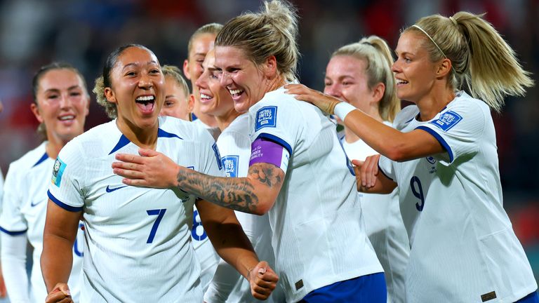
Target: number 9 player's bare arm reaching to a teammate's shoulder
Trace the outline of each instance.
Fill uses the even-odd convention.
[[[296,95],[296,99],[310,102],[328,114],[334,114],[335,105],[342,102],[301,84],[289,84],[285,88],[288,93]],[[408,161],[446,152],[438,140],[424,130],[402,133],[359,109],[347,114],[344,123],[376,152],[393,161]]]

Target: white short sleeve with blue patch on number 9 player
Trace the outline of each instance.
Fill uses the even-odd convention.
[[[434,156],[444,165],[477,152],[477,142],[481,140],[485,128],[486,113],[472,102],[471,99],[460,100],[441,112],[437,119],[417,127],[433,135],[446,149],[446,157]]]

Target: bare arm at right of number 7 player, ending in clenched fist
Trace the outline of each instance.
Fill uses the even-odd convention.
[[[204,230],[220,257],[249,281],[253,297],[267,299],[279,278],[267,262],[258,261],[234,211],[204,200],[197,201],[197,209]]]

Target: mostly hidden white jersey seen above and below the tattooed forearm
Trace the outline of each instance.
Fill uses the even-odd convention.
[[[217,140],[222,166],[227,177],[246,177],[251,157],[251,140],[248,136],[249,116],[242,114],[223,130]],[[259,260],[267,261],[275,268],[272,250],[272,230],[268,215],[251,215],[235,211],[241,227],[253,244]],[[204,294],[204,302],[261,302],[251,295],[249,282],[230,264],[221,260],[213,281]],[[284,302],[284,292],[280,286],[273,290],[265,302]]]

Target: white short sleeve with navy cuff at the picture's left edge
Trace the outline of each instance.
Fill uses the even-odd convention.
[[[21,194],[25,192],[20,189],[23,175],[23,172],[11,163],[4,183],[0,230],[11,236],[24,234],[28,229],[25,217],[20,210],[23,201]]]

